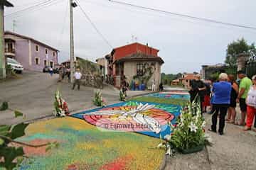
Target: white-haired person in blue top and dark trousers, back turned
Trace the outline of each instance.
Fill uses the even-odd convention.
[[[227,82],[228,74],[221,73],[219,76],[219,82],[213,84],[213,115],[212,115],[212,125],[209,131],[217,132],[217,119],[218,113],[219,117],[219,128],[218,132],[223,135],[223,130],[225,127],[225,115],[227,114],[228,107],[230,105],[230,94],[232,86]]]

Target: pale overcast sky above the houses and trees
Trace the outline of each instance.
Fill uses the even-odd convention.
[[[43,0],[9,0],[13,13]],[[60,61],[69,56],[68,0],[6,18],[6,30],[30,36],[60,50]],[[256,28],[255,0],[119,0],[165,11],[210,18]],[[256,30],[234,28],[214,23],[193,21],[164,13],[145,11],[114,4],[108,0],[80,0],[82,8],[95,23],[112,47],[137,41],[160,50],[165,61],[162,72],[199,71],[202,64],[216,64],[225,60],[228,43],[244,37],[247,42],[256,41]],[[24,6],[25,5],[25,6]],[[64,28],[64,29],[63,29]],[[64,31],[62,31],[64,30]],[[62,33],[63,32],[63,33]],[[74,8],[75,56],[95,61],[104,57],[112,48],[92,28],[80,8]]]

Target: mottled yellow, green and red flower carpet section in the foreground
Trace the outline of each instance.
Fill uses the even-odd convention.
[[[104,132],[77,118],[56,118],[28,126],[20,139],[33,145],[58,142],[46,147],[25,147],[28,157],[21,169],[159,169],[164,150],[153,149],[160,140],[134,132]]]

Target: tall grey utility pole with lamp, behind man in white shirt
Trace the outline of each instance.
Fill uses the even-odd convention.
[[[73,8],[78,6],[70,0],[70,82],[74,83],[75,73],[75,52],[74,52],[74,29],[73,29]]]

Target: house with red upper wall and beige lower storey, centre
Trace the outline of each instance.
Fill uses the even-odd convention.
[[[155,81],[156,90],[161,82],[161,65],[164,60],[158,56],[159,50],[134,42],[112,50],[107,59],[107,75],[113,77],[114,86],[120,87],[124,77],[128,83],[146,84]]]

